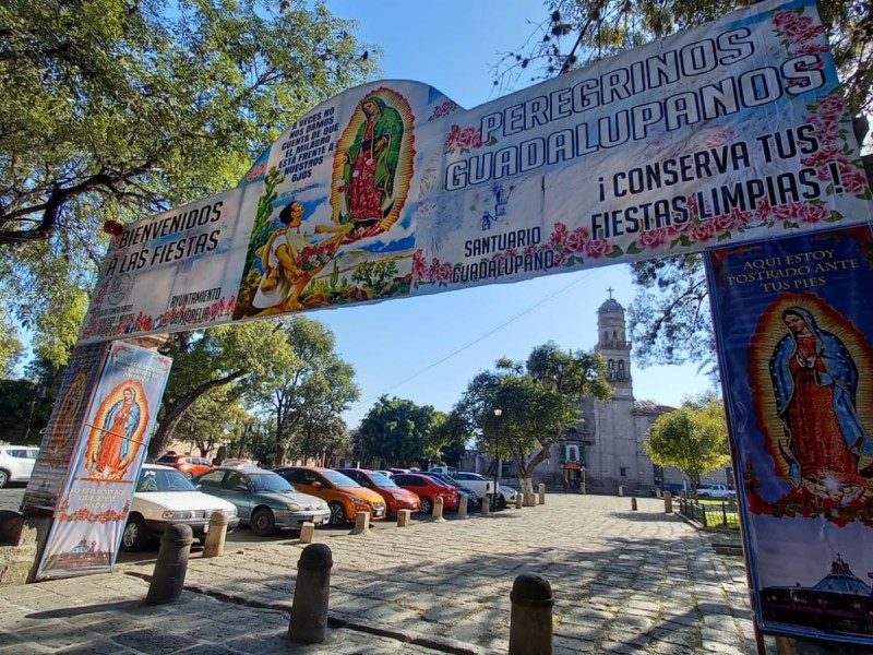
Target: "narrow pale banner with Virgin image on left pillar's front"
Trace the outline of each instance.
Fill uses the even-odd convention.
[[[171,360],[120,342],[106,349],[37,580],[109,571],[118,553]]]

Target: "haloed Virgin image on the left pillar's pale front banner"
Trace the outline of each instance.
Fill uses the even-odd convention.
[[[120,479],[131,465],[140,446],[137,428],[142,408],[137,392],[132,385],[121,390],[121,398],[112,402],[117,393],[110,394],[101,405],[97,417],[105,415],[98,426],[92,426],[85,466],[89,477]]]

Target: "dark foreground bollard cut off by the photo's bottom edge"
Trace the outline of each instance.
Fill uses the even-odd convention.
[[[522,573],[510,594],[510,655],[552,655],[552,587],[541,575]]]

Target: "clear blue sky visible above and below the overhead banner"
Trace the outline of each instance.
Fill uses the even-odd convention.
[[[358,21],[358,38],[382,48],[382,79],[424,82],[466,109],[498,97],[493,67],[546,15],[537,0],[331,0],[328,9]],[[500,357],[524,360],[549,341],[590,349],[608,288],[630,307],[630,273],[618,265],[307,315],[333,330],[337,352],[357,370],[361,400],[345,414],[356,427],[382,394],[449,412]],[[709,388],[694,366],[632,366],[631,373],[636,398],[668,405]]]

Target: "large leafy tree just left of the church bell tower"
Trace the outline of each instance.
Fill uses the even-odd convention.
[[[579,401],[612,396],[606,362],[595,353],[563,352],[548,343],[534,348],[526,364],[500,359],[495,369],[473,379],[453,413],[477,432],[480,450],[512,456],[525,490],[533,492],[537,466],[578,425]]]

